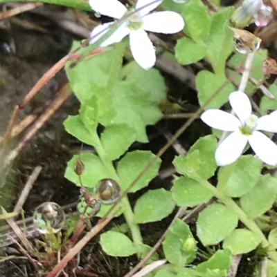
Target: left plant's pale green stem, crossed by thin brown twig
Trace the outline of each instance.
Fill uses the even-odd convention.
[[[111,173],[112,178],[116,180],[118,184],[120,184],[120,180],[116,173],[116,169],[114,169],[114,165],[112,164],[111,161],[107,160],[107,153],[105,152],[105,149],[103,149],[102,147],[100,138],[98,137],[97,133],[92,135],[93,135],[93,140],[95,142],[94,147],[98,153],[98,156],[100,157],[100,159],[102,160],[102,163],[106,166],[108,171]],[[143,238],[141,236],[141,230],[139,229],[139,225],[136,224],[136,222],[134,222],[134,213],[132,211],[132,207],[127,197],[123,198],[122,204],[124,209],[124,216],[131,230],[134,245],[137,249],[137,256],[141,258],[142,246],[143,246]]]

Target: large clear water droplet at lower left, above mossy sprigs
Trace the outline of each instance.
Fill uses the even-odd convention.
[[[64,210],[55,202],[44,202],[35,209],[33,222],[39,233],[57,233],[64,226]]]

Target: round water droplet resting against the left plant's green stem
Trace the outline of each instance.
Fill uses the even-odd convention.
[[[112,204],[120,196],[120,187],[115,180],[103,179],[96,185],[94,193],[101,204]]]

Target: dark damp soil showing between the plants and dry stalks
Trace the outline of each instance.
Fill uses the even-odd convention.
[[[26,24],[31,23],[31,24]],[[33,15],[26,12],[23,16],[6,19],[0,26],[0,135],[5,133],[8,121],[15,105],[19,104],[30,88],[37,82],[48,68],[66,55],[73,39],[81,39],[68,30],[57,26],[53,21],[41,15]],[[197,70],[197,69],[196,69]],[[174,99],[186,101],[191,111],[198,106],[195,90],[186,87],[174,77],[163,73],[170,96]],[[57,73],[50,82],[39,91],[37,96],[19,114],[19,119],[30,113],[34,113],[38,107],[55,97],[57,90],[66,83],[64,71]],[[61,206],[74,203],[80,195],[79,189],[64,178],[66,162],[71,159],[73,153],[80,151],[80,142],[68,135],[62,122],[68,115],[78,111],[78,101],[71,96],[64,105],[53,115],[35,137],[21,151],[19,157],[12,163],[8,171],[1,176],[0,204],[7,211],[12,211],[24,184],[35,166],[42,166],[42,172],[35,182],[33,189],[24,204],[26,217],[32,216],[35,208],[46,201],[57,202]],[[131,149],[150,149],[157,153],[166,144],[164,132],[174,134],[184,124],[181,120],[161,120],[156,126],[148,128],[150,142],[148,144],[134,144]],[[199,121],[195,121],[188,130],[179,137],[179,142],[185,149],[189,149],[198,137],[206,135],[208,128]],[[20,140],[16,137],[10,142],[16,145]],[[84,146],[87,147],[87,146]],[[173,148],[166,151],[162,157],[161,171],[170,169],[172,160],[177,155]],[[148,189],[165,188],[172,186],[172,177],[155,178]],[[139,196],[147,189],[129,196],[134,205]],[[170,224],[173,216],[148,225],[142,225],[141,231],[145,243],[153,246]],[[106,229],[124,222],[123,218],[116,218]],[[92,220],[92,224],[96,220]],[[0,225],[5,223],[0,222]],[[192,229],[195,229],[192,222]],[[98,244],[99,237],[93,238],[80,253],[80,267],[82,271],[76,271],[76,276],[103,276],[120,277],[138,262],[135,256],[128,258],[113,258],[105,255]],[[35,240],[31,241],[35,245]],[[201,249],[201,245],[199,245]],[[204,247],[203,247],[204,250]],[[161,249],[158,253],[163,257]],[[15,255],[23,257],[19,247],[11,245],[1,249],[0,256]],[[246,258],[247,259],[247,258]],[[201,259],[199,259],[199,262]],[[243,269],[240,267],[238,277],[246,277],[245,268],[253,272],[251,263],[244,260]],[[249,268],[248,269],[248,267]],[[255,265],[253,264],[253,267]],[[86,274],[84,274],[84,272]],[[72,273],[72,272],[71,272]],[[90,274],[90,275],[89,275]],[[94,274],[94,275],[93,275]],[[249,273],[251,274],[251,273]],[[33,265],[25,258],[6,260],[0,263],[0,277],[26,277],[39,276]],[[70,274],[69,276],[73,276]],[[249,275],[251,276],[251,275]]]

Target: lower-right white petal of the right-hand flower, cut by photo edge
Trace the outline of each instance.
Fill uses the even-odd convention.
[[[277,145],[265,134],[254,131],[249,136],[249,144],[262,162],[273,166],[277,164]]]

